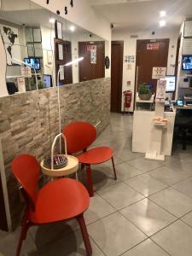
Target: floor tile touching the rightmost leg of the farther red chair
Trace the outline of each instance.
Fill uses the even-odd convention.
[[[115,166],[117,176],[120,180],[125,180],[130,177],[135,177],[143,172],[139,171],[136,167],[129,165],[129,162],[121,163]]]

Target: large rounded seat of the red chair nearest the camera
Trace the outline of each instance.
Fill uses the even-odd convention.
[[[49,224],[74,218],[85,212],[89,205],[89,194],[81,183],[61,178],[40,189],[36,210],[30,212],[30,219],[33,224]]]

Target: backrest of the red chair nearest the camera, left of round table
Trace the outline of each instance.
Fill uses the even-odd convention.
[[[15,157],[11,167],[20,185],[35,205],[40,169],[38,160],[30,154],[20,154]]]

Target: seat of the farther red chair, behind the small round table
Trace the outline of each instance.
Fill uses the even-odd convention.
[[[108,147],[92,148],[78,156],[79,162],[87,165],[102,164],[113,157],[113,150]]]

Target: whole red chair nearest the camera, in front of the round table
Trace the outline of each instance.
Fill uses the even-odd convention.
[[[60,178],[38,190],[39,164],[29,154],[20,154],[11,166],[26,201],[16,256],[20,255],[22,241],[26,239],[27,230],[32,225],[50,224],[70,218],[77,218],[87,255],[92,255],[83,216],[89,207],[90,197],[84,186],[74,179]]]

